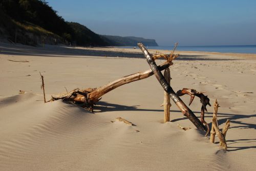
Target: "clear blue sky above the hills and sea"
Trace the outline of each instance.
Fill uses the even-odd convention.
[[[154,38],[160,46],[256,45],[256,0],[47,0],[98,34]]]

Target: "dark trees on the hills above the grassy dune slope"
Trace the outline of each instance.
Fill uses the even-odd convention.
[[[80,46],[109,45],[98,34],[78,23],[68,23],[46,1],[0,0],[0,10],[20,23],[31,23]]]

